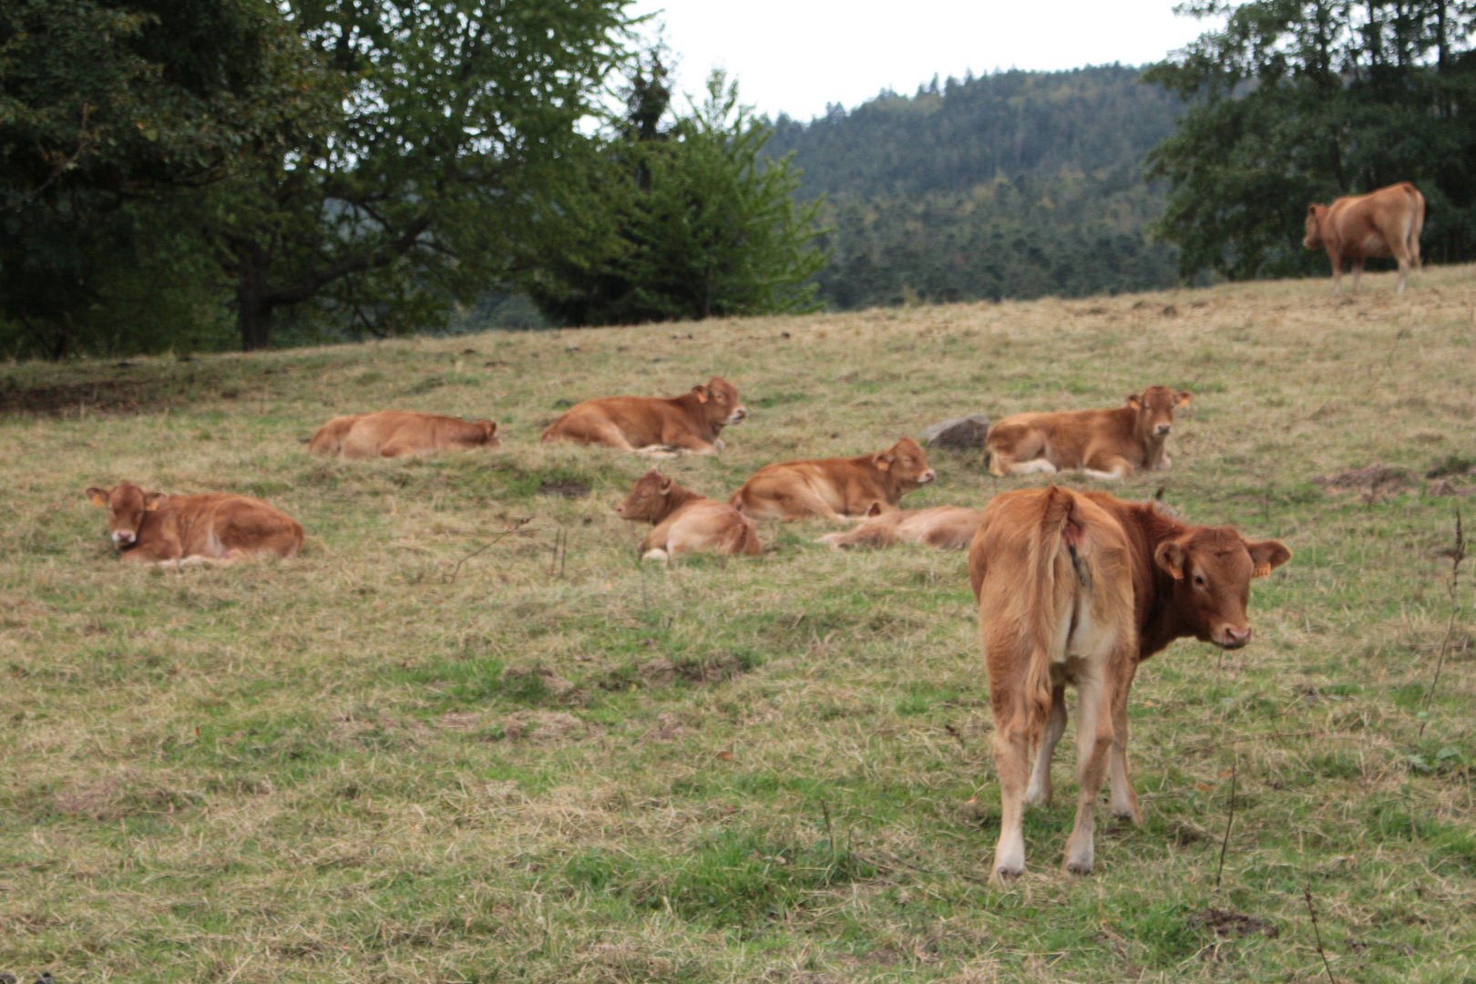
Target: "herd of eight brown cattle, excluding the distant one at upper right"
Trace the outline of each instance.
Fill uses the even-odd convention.
[[[1166,468],[1173,413],[1193,394],[1148,387],[1125,406],[1066,413],[1021,413],[983,441],[995,475],[1079,469],[1123,478]],[[711,454],[722,431],[747,409],[729,381],[670,398],[608,397],[570,407],[542,441],[574,441],[649,456]],[[404,410],[334,417],[307,440],[308,451],[344,459],[399,457],[499,447],[492,420]],[[912,438],[856,457],[775,462],[756,471],[726,502],[683,488],[652,468],[615,512],[651,524],[642,559],[689,553],[759,555],[756,521],[818,518],[859,525],[821,538],[832,547],[921,543],[970,549],[968,569],[995,718],[1002,822],[992,879],[1024,870],[1024,805],[1051,800],[1051,755],[1066,727],[1064,689],[1077,689],[1079,805],[1066,867],[1094,863],[1092,817],[1110,775],[1111,810],[1138,822],[1128,769],[1128,690],[1141,661],[1175,639],[1225,649],[1250,642],[1249,584],[1286,564],[1274,540],[1247,541],[1230,527],[1193,527],[1157,503],[1129,503],[1098,491],[1051,485],[995,496],[983,509],[903,510],[905,494],[937,474]],[[246,496],[167,496],[124,482],[89,488],[108,509],[112,541],[125,561],[177,565],[294,556],[303,527]],[[1033,770],[1030,749],[1038,748]]]

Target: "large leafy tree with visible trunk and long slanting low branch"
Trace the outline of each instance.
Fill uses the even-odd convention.
[[[582,118],[624,58],[630,0],[298,0],[345,91],[338,124],[213,195],[205,235],[245,348],[313,301],[375,335],[444,320],[505,271],[579,173]]]

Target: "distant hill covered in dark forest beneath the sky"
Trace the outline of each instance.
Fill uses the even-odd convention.
[[[1141,164],[1182,103],[1138,77],[1008,71],[807,124],[781,117],[766,152],[794,150],[799,195],[830,199],[821,298],[852,308],[1175,283],[1173,251],[1144,236],[1163,195]]]

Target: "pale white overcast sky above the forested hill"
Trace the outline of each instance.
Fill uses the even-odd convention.
[[[666,25],[677,91],[695,96],[725,68],[742,102],[799,119],[887,87],[911,94],[934,74],[1142,65],[1210,27],[1173,16],[1173,0],[636,0],[633,10]]]

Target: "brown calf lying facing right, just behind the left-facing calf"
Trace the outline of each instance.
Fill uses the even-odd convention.
[[[896,509],[934,478],[927,453],[905,437],[875,454],[765,465],[728,502],[754,519],[844,519]]]

